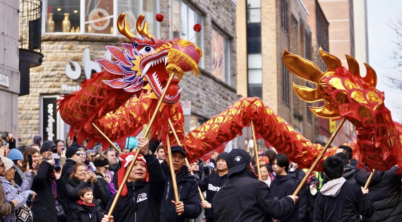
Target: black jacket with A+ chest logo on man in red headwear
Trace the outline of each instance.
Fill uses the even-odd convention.
[[[149,183],[145,181],[127,182],[127,195],[121,196],[112,216],[116,222],[141,221],[159,222],[160,202],[165,188],[162,166],[154,155],[146,154]],[[109,212],[113,199],[110,198],[105,212]]]

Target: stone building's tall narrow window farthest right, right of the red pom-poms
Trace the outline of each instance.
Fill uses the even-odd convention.
[[[212,27],[212,75],[230,84],[230,41],[215,26]]]

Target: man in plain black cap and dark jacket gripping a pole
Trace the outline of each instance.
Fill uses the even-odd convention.
[[[195,219],[201,214],[201,198],[195,176],[189,173],[185,163],[186,150],[181,146],[172,146],[172,163],[176,174],[176,183],[180,201],[174,201],[174,192],[170,168],[166,160],[162,162],[162,168],[166,176],[166,187],[160,206],[160,221],[184,222],[186,218]],[[180,216],[177,214],[181,213]]]

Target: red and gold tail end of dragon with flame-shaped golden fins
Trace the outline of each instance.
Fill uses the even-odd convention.
[[[293,91],[301,100],[313,103],[324,101],[322,107],[309,107],[312,113],[322,118],[348,118],[359,126],[372,120],[377,107],[384,102],[384,94],[375,89],[377,76],[367,64],[367,74],[361,77],[359,65],[351,56],[346,56],[349,70],[341,61],[320,48],[320,56],[327,70],[322,72],[312,61],[285,50],[283,62],[293,75],[316,85],[316,89],[292,84]]]

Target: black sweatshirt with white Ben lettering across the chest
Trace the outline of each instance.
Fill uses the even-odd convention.
[[[219,176],[219,173],[216,173],[207,176],[198,183],[198,186],[201,189],[201,191],[207,192],[207,198],[205,198],[205,200],[208,201],[212,206],[211,209],[205,209],[205,218],[207,219],[207,222],[215,221],[213,218],[213,197],[219,191],[219,189],[226,183],[226,181],[228,181],[228,174]]]

